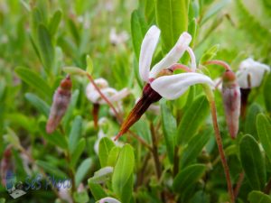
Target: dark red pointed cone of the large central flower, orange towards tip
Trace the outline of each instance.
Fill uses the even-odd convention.
[[[159,101],[161,98],[162,97],[156,91],[154,91],[154,89],[150,86],[149,83],[146,84],[145,88],[143,89],[142,97],[137,101],[135,107],[126,117],[126,120],[121,125],[120,131],[117,134],[115,140],[117,140],[122,134],[125,134],[129,130],[129,128],[140,119],[140,117],[145,113],[145,111],[151,104]]]

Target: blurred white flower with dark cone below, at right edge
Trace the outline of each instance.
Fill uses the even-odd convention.
[[[270,67],[251,58],[243,60],[237,71],[240,88],[257,88],[261,85],[266,72]]]

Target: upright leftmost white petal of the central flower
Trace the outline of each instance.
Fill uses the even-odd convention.
[[[146,32],[144,40],[141,44],[139,56],[139,75],[145,82],[148,82],[149,80],[149,71],[159,36],[159,28],[153,25],[148,32]]]

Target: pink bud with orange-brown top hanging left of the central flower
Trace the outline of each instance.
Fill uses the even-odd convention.
[[[47,134],[54,132],[61,123],[61,118],[65,115],[70,103],[71,86],[70,75],[68,75],[61,80],[60,87],[54,92],[50,115],[46,125]]]

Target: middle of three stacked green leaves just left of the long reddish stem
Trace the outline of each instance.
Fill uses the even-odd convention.
[[[192,139],[188,142],[187,146],[184,148],[182,152],[181,158],[181,166],[182,168],[187,166],[193,160],[197,158],[202,148],[210,139],[211,131],[204,131],[203,133],[196,134],[192,137]]]

